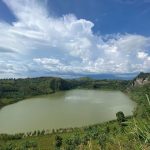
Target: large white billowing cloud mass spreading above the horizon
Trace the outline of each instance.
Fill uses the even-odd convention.
[[[16,16],[0,22],[0,77],[32,72],[128,73],[150,71],[150,37],[95,35],[94,24],[73,14],[53,17],[37,0],[3,0]],[[8,62],[9,60],[9,62]],[[21,68],[21,69],[20,69]]]

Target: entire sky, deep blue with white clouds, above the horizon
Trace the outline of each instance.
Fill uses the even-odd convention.
[[[0,78],[150,72],[150,0],[0,0]]]

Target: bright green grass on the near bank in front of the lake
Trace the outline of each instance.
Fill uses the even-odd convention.
[[[109,130],[108,130],[109,128]],[[94,133],[98,133],[97,135]],[[126,121],[126,126],[120,126],[117,121],[110,121],[103,124],[97,124],[89,127],[74,129],[71,132],[52,133],[40,136],[28,136],[21,140],[3,141],[2,145],[15,145],[16,149],[22,150],[21,147],[27,141],[37,143],[37,150],[55,150],[55,137],[60,136],[63,139],[61,149],[67,149],[66,140],[73,139],[75,136],[78,139],[83,139],[89,136],[87,144],[79,144],[76,149],[80,150],[99,150],[101,145],[100,136],[103,135],[106,139],[104,149],[110,150],[149,150],[150,149],[150,126],[147,120],[137,120],[129,118]],[[101,139],[102,140],[102,139]],[[5,149],[5,148],[4,148]]]

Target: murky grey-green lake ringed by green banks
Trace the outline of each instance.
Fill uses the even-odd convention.
[[[120,91],[70,90],[26,99],[0,109],[0,133],[81,127],[132,115],[136,103]]]

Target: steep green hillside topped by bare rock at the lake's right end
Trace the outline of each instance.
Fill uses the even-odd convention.
[[[138,103],[135,115],[141,118],[150,115],[150,73],[140,73],[131,81],[126,92]]]

